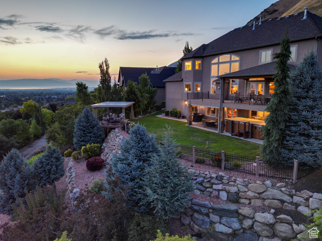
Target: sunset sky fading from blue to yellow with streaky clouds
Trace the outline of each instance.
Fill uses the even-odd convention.
[[[2,0],[0,80],[99,80],[105,57],[120,66],[169,65],[246,24],[273,0]]]

